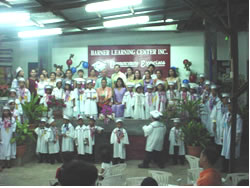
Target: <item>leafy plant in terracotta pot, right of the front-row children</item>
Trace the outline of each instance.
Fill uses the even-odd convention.
[[[209,132],[200,122],[193,120],[182,126],[182,133],[187,154],[199,157],[202,149],[210,142]]]

